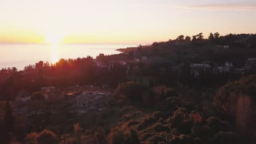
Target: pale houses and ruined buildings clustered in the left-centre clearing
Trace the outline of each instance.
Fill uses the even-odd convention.
[[[42,87],[41,92],[44,94],[45,100],[61,100],[66,97],[68,103],[71,103],[78,109],[98,110],[107,105],[110,100],[110,93],[79,91],[68,94],[59,93],[56,87]],[[31,100],[31,93],[20,91],[16,97],[16,113],[19,115],[27,115],[26,103]]]

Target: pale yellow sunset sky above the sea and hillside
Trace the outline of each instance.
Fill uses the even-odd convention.
[[[0,0],[0,43],[152,44],[256,33],[256,0]]]

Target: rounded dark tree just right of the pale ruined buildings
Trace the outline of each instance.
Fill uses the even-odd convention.
[[[140,83],[135,82],[126,82],[121,83],[118,88],[115,90],[114,98],[130,100],[132,102],[141,101],[142,94],[146,91],[146,87]]]

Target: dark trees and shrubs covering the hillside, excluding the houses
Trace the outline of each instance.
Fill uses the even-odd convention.
[[[247,38],[240,42],[241,38]],[[234,41],[238,41],[234,42]],[[245,74],[200,71],[189,64],[231,61],[242,67],[255,56],[254,34],[203,34],[123,49],[125,53],[38,62],[23,71],[0,71],[0,141],[3,143],[250,143],[255,142],[255,70]],[[229,45],[230,49],[216,45]],[[137,50],[135,52],[135,50]],[[153,62],[133,62],[136,55]],[[126,65],[120,64],[126,61]],[[103,63],[98,67],[98,62]],[[178,67],[178,69],[177,69]],[[31,74],[32,73],[32,74]],[[35,74],[34,74],[35,73]],[[137,82],[130,82],[129,77]],[[242,78],[241,78],[242,77]],[[149,85],[139,82],[150,79]],[[241,79],[240,79],[241,78]],[[47,101],[43,86],[93,85],[109,88],[106,111],[73,115],[68,99]],[[20,117],[16,93],[33,93]],[[56,113],[54,113],[52,110]],[[45,110],[40,113],[39,110]]]

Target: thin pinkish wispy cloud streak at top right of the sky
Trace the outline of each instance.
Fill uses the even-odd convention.
[[[256,2],[176,5],[176,8],[183,8],[183,9],[256,10]]]

